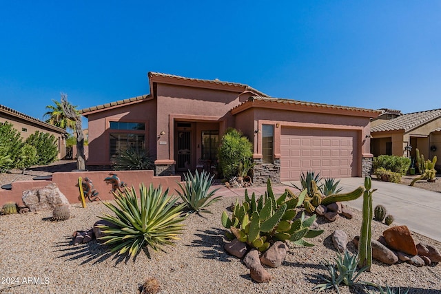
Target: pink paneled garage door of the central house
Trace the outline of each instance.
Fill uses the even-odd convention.
[[[302,171],[323,178],[357,176],[357,132],[283,127],[280,180],[298,180]]]

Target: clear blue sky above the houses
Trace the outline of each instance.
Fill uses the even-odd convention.
[[[441,1],[3,1],[0,104],[35,118],[149,92],[147,72],[404,113],[441,107]]]

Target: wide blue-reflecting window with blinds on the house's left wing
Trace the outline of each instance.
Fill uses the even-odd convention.
[[[145,123],[111,121],[110,130],[110,159],[130,148],[145,149]]]

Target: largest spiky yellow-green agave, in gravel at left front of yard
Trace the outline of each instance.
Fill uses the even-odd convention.
[[[153,184],[148,189],[141,184],[139,194],[140,201],[132,187],[114,193],[117,206],[103,202],[116,214],[100,216],[113,224],[100,226],[105,236],[99,238],[110,246],[112,253],[119,251],[121,255],[128,251],[134,257],[141,249],[148,251],[147,246],[154,251],[163,250],[163,245],[172,245],[172,240],[179,239],[185,204],[176,205],[177,197],[168,196],[168,189],[163,193],[161,186],[154,188]]]

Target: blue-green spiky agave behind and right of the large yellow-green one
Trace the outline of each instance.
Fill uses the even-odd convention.
[[[221,196],[214,197],[218,189],[209,191],[210,187],[212,187],[213,179],[214,176],[210,176],[205,171],[202,171],[201,174],[196,171],[194,176],[190,171],[184,174],[185,183],[178,183],[181,191],[176,190],[176,192],[190,213],[211,213],[207,210],[207,207],[220,200]]]

